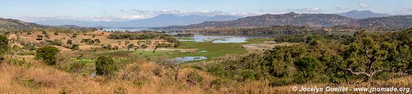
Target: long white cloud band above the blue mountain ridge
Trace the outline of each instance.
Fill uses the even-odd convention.
[[[99,11],[106,12],[109,11]],[[259,14],[265,14],[263,12],[254,12],[254,13],[228,13],[222,12],[219,10],[208,11],[186,11],[186,10],[118,10],[120,14],[118,16],[17,16],[13,19],[19,19],[22,21],[28,22],[39,22],[39,21],[54,21],[54,20],[72,20],[72,21],[130,21],[138,19],[149,19],[153,16],[158,16],[159,14],[175,14],[180,16],[187,15],[202,15],[202,16],[215,16],[215,15],[232,15],[232,16],[256,16]]]

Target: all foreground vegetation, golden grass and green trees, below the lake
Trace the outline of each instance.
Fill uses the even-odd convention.
[[[241,46],[265,40],[296,44],[252,53]],[[48,45],[19,56],[22,48],[10,41],[0,36],[0,93],[294,93],[294,86],[412,86],[412,29],[281,36],[247,43],[181,42],[176,48],[207,51],[203,53],[61,51]],[[175,56],[209,60],[167,60]]]

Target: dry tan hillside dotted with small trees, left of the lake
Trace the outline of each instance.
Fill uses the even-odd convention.
[[[109,37],[116,36],[116,34],[118,33],[98,31],[83,33],[32,31],[27,33],[10,34],[8,38],[15,41],[15,43],[12,44],[17,45],[18,47],[42,47],[46,45],[54,45],[54,47],[58,47],[61,51],[72,51],[70,49],[96,49],[102,48],[104,45],[110,45],[110,47],[116,47],[116,49],[127,49],[132,47],[140,49],[153,49],[159,44],[175,44],[169,42],[169,40],[165,40],[163,38],[164,36],[159,38],[162,34],[153,34],[150,32],[133,34],[136,36],[143,34],[147,36],[139,37],[140,40],[113,39]],[[78,45],[78,48],[74,48],[74,45]]]

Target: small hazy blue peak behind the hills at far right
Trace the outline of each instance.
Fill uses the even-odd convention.
[[[373,18],[373,17],[392,16],[391,14],[380,14],[380,13],[371,12],[369,10],[363,10],[363,11],[351,10],[349,12],[336,13],[336,14],[340,16],[347,16],[352,19],[368,19],[368,18]]]

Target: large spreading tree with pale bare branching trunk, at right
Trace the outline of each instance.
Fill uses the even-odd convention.
[[[370,82],[376,73],[387,71],[383,62],[387,59],[388,51],[381,45],[383,44],[371,37],[360,38],[356,43],[351,43],[342,55],[348,60],[347,67],[340,69],[354,75],[364,75],[364,82]]]

